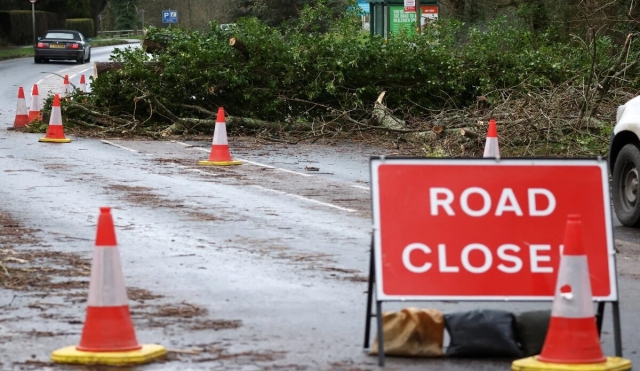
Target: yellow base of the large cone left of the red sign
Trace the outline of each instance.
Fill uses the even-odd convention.
[[[51,360],[56,363],[80,365],[128,366],[148,363],[167,355],[162,345],[144,344],[142,349],[128,352],[83,352],[75,345],[54,350]]]

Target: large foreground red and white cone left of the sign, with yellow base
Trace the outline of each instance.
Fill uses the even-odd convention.
[[[51,358],[57,363],[125,366],[146,363],[166,354],[161,345],[138,344],[111,208],[101,207],[80,344],[55,350]]]

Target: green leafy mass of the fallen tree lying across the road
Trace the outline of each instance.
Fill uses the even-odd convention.
[[[134,98],[152,93],[183,116],[197,115],[185,108],[197,105],[211,111],[224,106],[244,117],[305,120],[332,108],[368,111],[386,91],[389,107],[412,116],[469,106],[480,95],[491,100],[505,88],[542,91],[590,74],[584,47],[558,43],[553,30],[534,33],[504,18],[482,29],[441,20],[421,35],[363,38],[354,5],[336,17],[335,8],[319,1],[278,28],[256,18],[241,18],[232,30],[214,22],[205,33],[151,27],[147,38],[166,45],[158,63],[145,64],[152,56],[140,50],[120,51],[113,59],[125,66],[97,79],[95,104],[148,116],[149,105]],[[248,58],[229,46],[232,36],[246,46]],[[596,50],[596,65],[608,68],[614,45],[600,38]]]

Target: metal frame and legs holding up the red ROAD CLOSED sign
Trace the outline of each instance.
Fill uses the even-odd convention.
[[[605,205],[605,223],[606,223],[606,239],[607,249],[610,255],[610,261],[608,264],[611,295],[603,298],[596,299],[597,311],[596,321],[598,328],[598,335],[602,330],[602,322],[604,318],[605,304],[611,303],[612,317],[613,317],[613,330],[614,330],[614,343],[616,356],[622,357],[622,338],[620,330],[620,307],[619,307],[619,295],[618,295],[618,283],[617,283],[617,270],[615,262],[615,245],[613,237],[613,223],[612,213],[610,207],[610,195],[609,195],[609,177],[608,177],[608,164],[607,161],[602,158],[582,158],[582,159],[531,159],[531,158],[502,158],[502,159],[488,159],[488,158],[460,158],[460,159],[441,159],[441,158],[408,158],[408,157],[384,157],[374,156],[370,158],[370,179],[371,179],[371,200],[373,210],[373,234],[371,238],[370,258],[369,258],[369,282],[367,290],[367,309],[366,309],[366,325],[364,334],[364,349],[369,348],[369,340],[371,337],[371,319],[376,318],[377,325],[377,337],[378,337],[378,364],[384,366],[384,338],[382,331],[382,303],[385,301],[416,301],[416,302],[439,302],[444,300],[458,300],[458,301],[471,301],[471,302],[488,302],[488,301],[510,301],[510,302],[542,302],[552,301],[553,297],[508,297],[508,296],[479,296],[479,297],[465,297],[465,296],[425,296],[425,297],[403,297],[403,296],[388,296],[382,291],[382,254],[381,254],[381,231],[380,231],[380,204],[377,197],[379,197],[379,179],[377,174],[378,166],[381,164],[438,164],[438,165],[451,165],[451,164],[465,164],[465,165],[495,165],[495,166],[539,166],[541,164],[554,165],[554,166],[576,166],[576,165],[591,165],[598,166],[602,172],[603,178],[603,197]],[[375,293],[375,299],[374,299]],[[373,313],[373,304],[375,301],[376,312]]]

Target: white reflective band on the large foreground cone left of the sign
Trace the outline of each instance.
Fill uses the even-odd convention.
[[[91,307],[129,305],[117,247],[94,249],[87,305]]]

